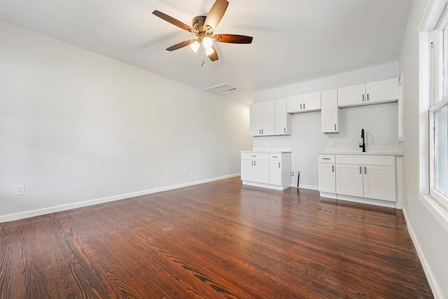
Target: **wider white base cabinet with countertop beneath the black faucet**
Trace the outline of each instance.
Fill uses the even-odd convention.
[[[335,190],[328,183],[331,164],[322,163],[323,156],[335,159]],[[392,155],[319,155],[319,191],[340,200],[395,207],[395,172]]]

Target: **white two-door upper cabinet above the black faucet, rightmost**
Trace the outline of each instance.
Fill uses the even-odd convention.
[[[398,78],[353,85],[337,90],[339,107],[398,101]]]

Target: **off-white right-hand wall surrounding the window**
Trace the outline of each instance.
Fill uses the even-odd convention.
[[[400,55],[404,74],[405,141],[403,204],[409,232],[419,251],[435,298],[448,298],[448,233],[419,200],[419,27],[428,1],[414,0]]]

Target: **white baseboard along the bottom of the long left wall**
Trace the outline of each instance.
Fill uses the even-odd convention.
[[[116,200],[125,200],[125,199],[131,198],[131,197],[137,197],[137,196],[148,195],[148,194],[152,194],[152,193],[174,190],[174,189],[184,188],[184,187],[188,187],[188,186],[199,185],[201,183],[209,183],[211,181],[230,179],[232,177],[239,176],[239,175],[240,174],[217,176],[217,177],[214,177],[211,179],[192,181],[192,182],[188,182],[188,183],[180,183],[178,185],[165,186],[165,187],[154,188],[154,189],[149,189],[149,190],[142,190],[142,191],[137,191],[137,192],[132,192],[132,193],[125,193],[125,194],[114,195],[114,196],[110,196],[110,197],[97,198],[94,200],[85,200],[83,202],[73,202],[71,204],[62,204],[59,206],[46,207],[43,209],[34,209],[31,211],[22,211],[20,213],[0,216],[0,223],[8,222],[8,221],[15,221],[15,220],[23,219],[23,218],[34,217],[34,216],[40,216],[40,215],[45,215],[45,214],[50,214],[50,213],[55,213],[58,211],[66,211],[69,209],[76,209],[76,208],[80,208],[80,207],[92,206],[94,204],[103,204],[106,202],[114,202]]]

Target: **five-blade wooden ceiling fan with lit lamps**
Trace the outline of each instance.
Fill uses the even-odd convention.
[[[214,34],[214,30],[223,18],[228,5],[229,2],[227,0],[216,0],[214,5],[211,6],[209,15],[198,15],[193,18],[193,27],[176,20],[165,13],[153,11],[153,14],[157,15],[159,18],[172,23],[172,25],[175,25],[183,30],[191,32],[196,36],[194,39],[188,39],[186,41],[181,41],[181,43],[176,43],[176,45],[167,48],[167,50],[174,51],[190,46],[190,48],[192,48],[196,53],[200,46],[202,46],[205,50],[205,54],[213,62],[218,60],[218,53],[216,53],[216,48],[213,46],[214,41],[217,41],[218,43],[252,43],[252,36],[238,34]]]

